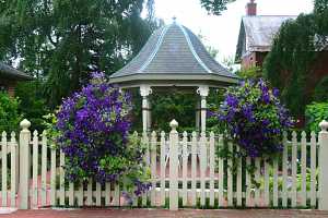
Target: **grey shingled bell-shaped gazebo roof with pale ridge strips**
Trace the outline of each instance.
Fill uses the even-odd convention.
[[[237,80],[209,55],[190,29],[174,22],[155,31],[141,51],[114,73],[109,82],[127,86],[226,86]]]

